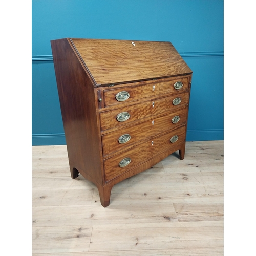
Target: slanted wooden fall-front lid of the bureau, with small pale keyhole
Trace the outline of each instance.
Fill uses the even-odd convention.
[[[97,86],[192,73],[170,42],[71,41]]]

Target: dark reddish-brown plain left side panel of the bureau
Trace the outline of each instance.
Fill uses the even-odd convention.
[[[51,45],[70,168],[102,184],[94,86],[68,39]]]

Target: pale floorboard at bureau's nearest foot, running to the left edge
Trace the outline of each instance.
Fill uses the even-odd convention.
[[[109,205],[109,210],[100,206],[99,198],[91,205],[36,206],[33,207],[33,227],[73,226],[86,223],[100,224],[167,223],[178,222],[175,209],[169,203],[151,202],[142,204]],[[101,208],[101,210],[99,210]]]

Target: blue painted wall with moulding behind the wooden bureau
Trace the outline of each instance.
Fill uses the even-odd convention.
[[[32,0],[32,145],[66,144],[50,40],[170,41],[193,70],[187,141],[223,140],[223,0]]]

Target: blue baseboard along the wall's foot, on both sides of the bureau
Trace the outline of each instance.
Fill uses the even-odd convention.
[[[223,129],[188,130],[186,141],[224,140]],[[33,134],[32,146],[66,145],[65,134]]]

